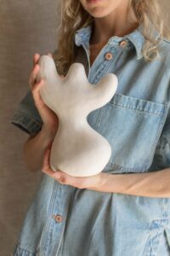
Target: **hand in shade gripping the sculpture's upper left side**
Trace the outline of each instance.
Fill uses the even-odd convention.
[[[48,55],[53,58],[51,54]],[[53,140],[58,130],[59,119],[54,111],[48,108],[48,106],[42,101],[42,97],[40,96],[39,90],[43,86],[43,79],[41,79],[38,83],[36,81],[37,73],[39,72],[40,68],[40,66],[37,64],[39,58],[39,54],[35,54],[33,56],[33,68],[29,77],[29,85],[31,88],[31,93],[35,102],[35,106],[42,118],[42,129],[44,130],[45,135],[49,138],[49,140]]]

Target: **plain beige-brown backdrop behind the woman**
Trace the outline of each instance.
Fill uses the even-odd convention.
[[[42,177],[26,170],[22,148],[28,135],[9,120],[26,94],[33,54],[48,54],[56,47],[56,2],[0,0],[0,256],[13,251]],[[168,14],[169,0],[160,2]]]

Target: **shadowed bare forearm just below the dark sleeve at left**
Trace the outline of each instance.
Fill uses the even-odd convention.
[[[42,159],[45,148],[52,140],[42,130],[35,137],[30,137],[24,145],[24,161],[29,171],[37,172],[42,168]]]

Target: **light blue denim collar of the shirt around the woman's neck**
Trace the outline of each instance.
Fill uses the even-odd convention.
[[[86,26],[78,29],[75,34],[75,44],[77,46],[81,44],[88,44],[89,39],[92,32],[92,26]],[[107,44],[118,44],[122,40],[128,39],[131,44],[133,44],[134,48],[136,49],[137,59],[143,57],[142,47],[144,44],[144,36],[142,34],[142,25],[139,25],[133,32],[123,36],[122,38],[113,36],[108,40]],[[127,41],[128,41],[127,40]]]

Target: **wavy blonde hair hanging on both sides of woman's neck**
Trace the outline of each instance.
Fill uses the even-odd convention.
[[[54,53],[54,61],[58,72],[66,74],[74,61],[74,36],[77,29],[93,23],[94,17],[83,9],[79,0],[59,1],[59,27],[57,49]],[[161,12],[157,0],[129,0],[128,12],[133,9],[135,18],[143,25],[145,38],[143,54],[145,61],[153,61],[159,56],[158,45],[163,38],[170,38],[170,33],[161,19]],[[158,37],[154,35],[154,29]]]

